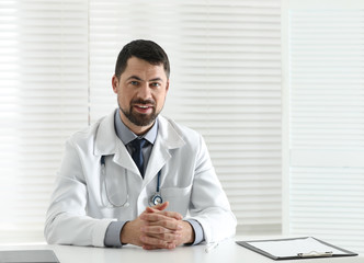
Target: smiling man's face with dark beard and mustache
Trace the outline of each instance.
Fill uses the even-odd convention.
[[[125,71],[113,77],[123,123],[135,134],[146,133],[164,105],[169,88],[163,65],[132,57]]]

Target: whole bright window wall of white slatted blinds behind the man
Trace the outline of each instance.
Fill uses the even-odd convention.
[[[117,54],[149,38],[172,66],[163,114],[205,137],[238,233],[363,251],[364,7],[282,2],[2,1],[0,241],[44,240],[66,138],[116,107]]]

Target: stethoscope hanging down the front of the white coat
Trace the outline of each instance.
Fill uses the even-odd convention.
[[[128,207],[130,204],[129,204],[129,190],[127,187],[127,170],[125,170],[125,188],[126,188],[126,199],[123,204],[115,204],[109,196],[109,191],[107,191],[107,180],[106,180],[106,168],[105,168],[105,156],[102,156],[101,157],[101,174],[102,176],[104,178],[104,188],[105,188],[105,193],[106,193],[106,199],[109,202],[109,204],[112,206],[112,207]],[[155,192],[155,194],[152,196],[150,196],[149,198],[149,205],[150,206],[155,206],[155,205],[159,205],[159,204],[162,204],[163,203],[163,198],[160,194],[160,175],[161,175],[161,170],[159,170],[158,172],[158,176],[157,176],[157,191]]]

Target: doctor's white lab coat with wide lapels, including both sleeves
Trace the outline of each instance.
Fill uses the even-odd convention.
[[[232,237],[236,217],[202,136],[159,116],[157,139],[143,180],[115,133],[114,114],[76,133],[66,142],[47,211],[47,242],[103,247],[113,220],[133,220],[149,205],[159,170],[161,196],[169,202],[168,210],[197,220],[206,242]],[[105,156],[104,174],[101,173],[102,156]],[[128,195],[128,207],[110,205],[105,176],[109,198],[121,205]]]

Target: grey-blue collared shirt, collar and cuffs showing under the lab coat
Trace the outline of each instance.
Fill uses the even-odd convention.
[[[144,139],[148,140],[150,142],[141,149],[143,158],[145,160],[144,169],[146,170],[146,168],[148,165],[149,157],[151,155],[152,146],[156,141],[157,134],[158,134],[158,118],[156,119],[152,127],[148,130],[148,133],[143,136],[137,136],[128,127],[126,127],[126,125],[122,122],[118,110],[115,113],[114,123],[115,123],[115,132],[116,132],[117,137],[123,141],[127,151],[130,155],[133,152],[133,149],[129,146],[129,142],[132,140],[139,137],[139,138],[144,138]],[[195,232],[195,240],[192,244],[201,243],[204,240],[204,231],[202,229],[202,226],[196,220],[186,220],[186,221],[190,222],[190,225],[192,226],[192,228]],[[109,227],[106,229],[106,233],[105,233],[105,239],[104,239],[104,243],[106,247],[118,247],[120,248],[123,245],[121,242],[120,236],[121,236],[122,229],[126,222],[127,221],[113,221],[109,225]]]

